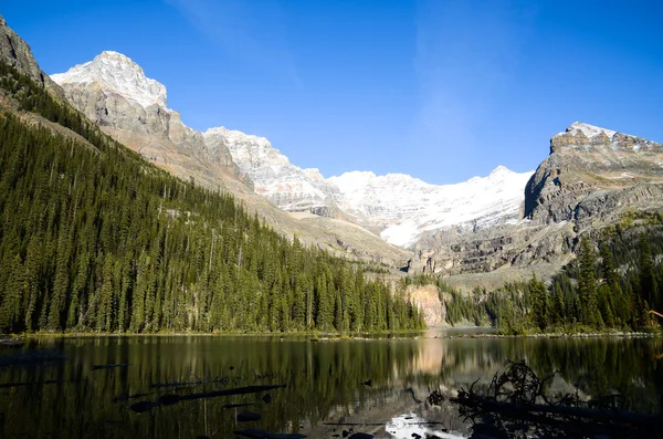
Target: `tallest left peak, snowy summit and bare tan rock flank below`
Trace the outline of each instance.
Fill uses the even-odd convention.
[[[170,169],[190,168],[194,163],[198,171],[193,177],[202,181],[210,179],[208,174],[215,167],[239,176],[228,148],[208,147],[201,133],[186,126],[180,114],[166,106],[166,87],[145,76],[129,58],[102,52],[51,77],[64,88],[71,104],[125,143],[136,144],[150,160]]]

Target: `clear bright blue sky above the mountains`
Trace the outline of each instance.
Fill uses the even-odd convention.
[[[12,1],[48,73],[103,50],[189,126],[267,137],[325,177],[536,168],[575,121],[663,142],[661,1]]]

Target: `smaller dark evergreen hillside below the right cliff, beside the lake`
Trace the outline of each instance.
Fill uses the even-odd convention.
[[[579,243],[576,260],[548,284],[533,278],[494,291],[463,294],[441,279],[417,276],[409,283],[434,283],[451,324],[495,325],[505,333],[639,330],[663,321],[663,218],[628,211]]]

